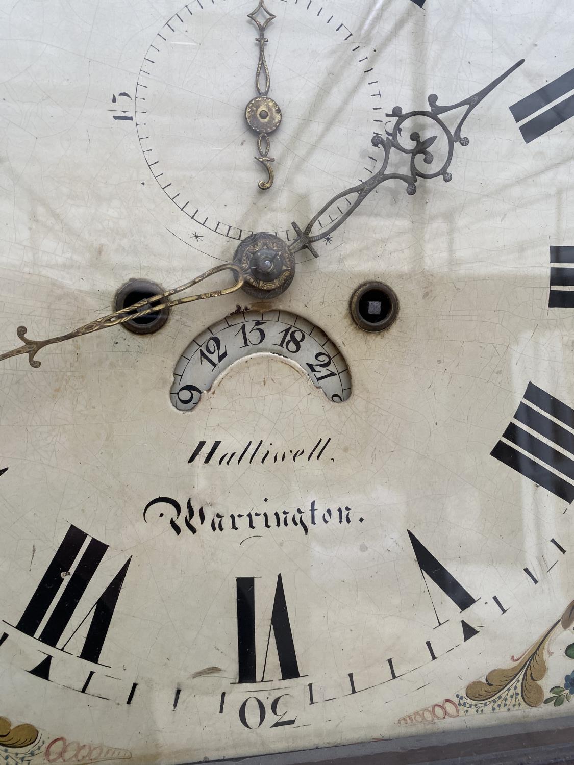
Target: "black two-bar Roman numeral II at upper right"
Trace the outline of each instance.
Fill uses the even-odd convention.
[[[559,103],[554,103],[572,89],[574,89],[574,69],[561,77],[557,77],[556,80],[543,86],[540,90],[536,90],[536,93],[531,93],[530,96],[510,106],[510,112],[512,112],[516,122],[523,122],[535,112],[548,107],[520,125],[520,132],[526,143],[530,143],[535,138],[540,138],[540,135],[562,125],[563,122],[574,116],[574,94],[559,101]],[[550,106],[551,104],[553,106]]]

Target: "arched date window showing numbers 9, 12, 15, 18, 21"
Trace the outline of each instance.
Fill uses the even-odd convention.
[[[174,369],[171,403],[181,411],[194,409],[230,364],[256,353],[295,361],[334,403],[351,396],[351,373],[341,350],[320,327],[276,309],[232,314],[195,337]]]

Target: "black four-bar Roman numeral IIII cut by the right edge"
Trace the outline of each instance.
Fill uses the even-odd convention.
[[[533,409],[534,406],[546,414]],[[547,442],[556,444],[574,456],[574,433],[554,422],[559,420],[574,429],[574,409],[530,382],[514,420],[516,422],[510,422],[501,441],[491,451],[492,456],[571,503],[574,500],[574,485],[564,476],[574,480],[574,461]],[[533,433],[521,428],[519,423]],[[525,451],[540,462],[523,454]]]

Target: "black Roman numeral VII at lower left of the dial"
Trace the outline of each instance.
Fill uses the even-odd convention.
[[[90,539],[90,542],[88,542],[73,574],[68,576],[67,572],[72,568],[86,539]],[[86,591],[88,584],[90,584],[107,549],[108,545],[88,536],[86,532],[77,529],[76,526],[70,526],[60,547],[55,552],[51,564],[47,567],[40,584],[38,584],[38,588],[30,598],[30,602],[24,609],[18,624],[16,624],[16,628],[31,637],[37,637],[42,643],[47,643],[47,645],[56,648],[77,605],[80,603],[80,598]],[[113,612],[118,602],[119,592],[122,589],[131,560],[132,558],[129,558],[122,568],[119,569],[116,576],[99,596],[96,603],[90,608],[80,625],[73,631],[66,643],[64,643],[63,647],[70,642],[73,635],[77,633],[83,622],[93,612],[86,640],[80,653],[81,659],[86,659],[89,662],[98,662],[99,654],[102,651],[103,643],[109,630],[109,623],[112,620]],[[64,585],[65,580],[67,580],[67,583],[64,591],[60,595],[59,600],[56,601],[58,591]],[[55,604],[54,601],[56,601]],[[44,627],[37,635],[40,624],[44,617],[47,616],[52,604],[54,604],[54,608],[48,616]]]

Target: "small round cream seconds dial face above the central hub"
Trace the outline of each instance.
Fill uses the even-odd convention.
[[[266,55],[283,121],[273,137],[279,180],[264,199],[253,192],[261,171],[245,120],[257,61],[253,0],[184,5],[155,34],[138,78],[135,117],[149,171],[196,228],[232,239],[259,230],[262,215],[269,230],[293,237],[292,220],[373,171],[370,138],[384,122],[373,48],[354,36],[352,11],[343,16],[327,2],[318,13],[295,0],[273,10]]]

